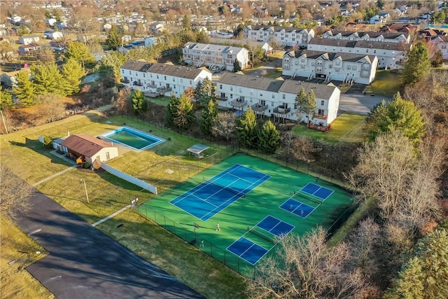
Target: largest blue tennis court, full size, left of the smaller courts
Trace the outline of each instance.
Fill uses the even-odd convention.
[[[207,221],[270,177],[236,164],[179,195],[170,203]]]

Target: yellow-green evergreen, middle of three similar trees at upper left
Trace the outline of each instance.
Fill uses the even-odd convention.
[[[64,88],[61,88],[61,83],[64,82],[64,78],[59,73],[59,68],[56,64],[31,66],[31,74],[33,76],[36,95],[50,93],[61,96],[66,95]]]

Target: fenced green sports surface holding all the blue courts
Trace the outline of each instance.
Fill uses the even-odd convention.
[[[218,191],[218,193],[228,196],[230,200],[224,198],[223,201],[226,203],[223,207],[217,208],[216,214],[212,213],[210,218],[207,216],[201,220],[201,217],[195,213],[195,207],[204,208],[200,203],[204,200],[200,196],[200,190],[207,189],[207,192],[214,193],[215,189],[211,188],[211,184],[207,183],[207,180],[232,175],[231,172],[230,174],[223,173],[229,172],[229,169],[235,169],[237,165],[249,169],[244,173],[251,174],[251,170],[253,170],[255,175],[259,175],[259,172],[270,177],[259,185],[254,185],[253,189],[249,188],[244,191],[244,195],[241,197],[235,195],[236,197],[233,199],[233,195],[230,193],[234,192],[233,190],[229,191],[227,186],[218,186],[218,190],[220,190],[219,188],[226,189],[221,190],[223,192]],[[236,176],[237,181],[241,179],[245,179],[243,175]],[[216,204],[212,196],[206,196],[205,200]],[[188,206],[192,199],[199,202],[195,203],[199,205]],[[178,200],[185,204],[176,205]],[[328,229],[346,211],[351,202],[351,195],[333,183],[322,179],[316,181],[314,176],[238,153],[144,202],[138,209],[148,218],[225,265],[241,274],[249,274],[253,265],[262,263],[264,256],[269,256],[274,252],[275,246],[277,246],[276,242],[279,240],[276,235],[281,235],[274,229],[276,221],[279,221],[280,226],[285,227],[286,225],[286,227],[293,228],[290,233],[299,235],[315,228],[316,225]],[[182,207],[190,210],[186,211]],[[272,230],[270,230],[269,223],[272,221],[274,222]],[[220,224],[221,230],[216,230],[216,223]],[[263,226],[266,230],[260,228]],[[255,233],[248,232],[248,228],[256,229]],[[255,256],[258,254],[258,257],[244,258],[246,251],[251,249],[249,247],[245,249],[246,244],[249,244],[249,247],[250,244],[256,244],[253,246],[253,254]]]

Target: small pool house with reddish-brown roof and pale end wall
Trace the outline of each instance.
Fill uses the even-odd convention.
[[[118,157],[117,146],[88,134],[73,134],[65,139],[58,139],[53,142],[53,148],[73,159],[81,158],[90,164],[94,160],[106,162]]]

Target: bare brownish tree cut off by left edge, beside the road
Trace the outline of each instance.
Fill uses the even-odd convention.
[[[0,211],[13,219],[19,213],[26,213],[31,208],[29,197],[31,186],[13,174],[10,169],[0,165]]]

